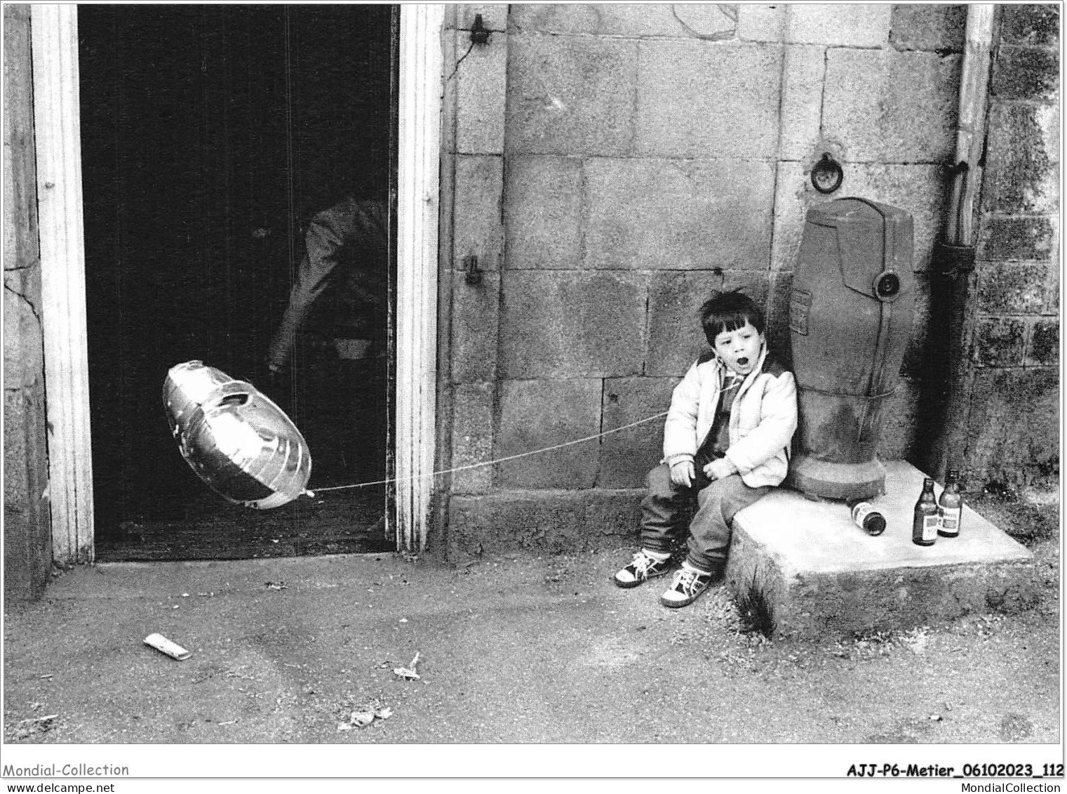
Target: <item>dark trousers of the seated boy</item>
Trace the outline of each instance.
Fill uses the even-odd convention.
[[[739,474],[712,482],[700,467],[690,488],[675,486],[666,463],[649,472],[646,482],[649,491],[641,499],[641,545],[653,552],[671,551],[671,540],[681,531],[685,508],[696,493],[697,512],[689,522],[686,560],[702,571],[722,567],[730,553],[733,517],[771,490],[770,486],[749,488]]]

